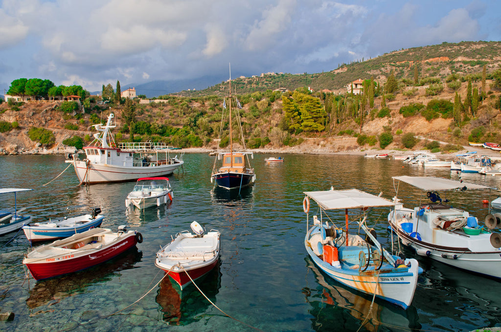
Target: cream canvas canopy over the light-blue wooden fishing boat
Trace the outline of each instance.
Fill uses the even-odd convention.
[[[395,205],[391,200],[358,189],[331,189],[325,191],[305,191],[304,193],[326,210]]]

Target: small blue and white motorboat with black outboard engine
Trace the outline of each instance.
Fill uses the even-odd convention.
[[[101,208],[94,207],[91,214],[83,214],[70,218],[64,217],[59,220],[49,219],[46,222],[35,222],[23,226],[23,230],[31,242],[68,237],[101,226],[104,215],[100,213]]]

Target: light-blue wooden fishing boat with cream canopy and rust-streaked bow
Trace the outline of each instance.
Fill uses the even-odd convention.
[[[412,302],[417,276],[421,271],[417,260],[402,259],[388,253],[366,226],[371,207],[394,205],[388,199],[357,189],[305,191],[303,209],[307,213],[306,251],[313,262],[335,280],[407,308]],[[310,224],[310,199],[320,210],[320,219],[313,216]],[[344,230],[336,227],[331,216],[324,218],[328,210],[344,210]],[[365,239],[348,231],[348,209],[362,213],[358,225],[366,233]],[[329,220],[329,221],[327,221]]]

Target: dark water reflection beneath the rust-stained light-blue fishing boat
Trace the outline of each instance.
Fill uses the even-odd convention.
[[[303,293],[312,306],[309,310],[312,328],[316,331],[377,331],[420,329],[416,308],[411,305],[407,310],[394,306],[356,290],[344,287],[321,272],[310,257],[305,258],[307,266],[313,271],[319,285],[312,289],[305,287]]]

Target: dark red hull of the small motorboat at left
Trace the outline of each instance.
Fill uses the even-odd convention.
[[[67,253],[57,257],[30,258],[23,260],[30,273],[36,280],[47,279],[67,273],[80,271],[103,263],[116,255],[136,246],[137,239],[134,232],[129,232],[116,241],[100,249],[81,250],[77,253]],[[83,252],[86,251],[86,252]]]

